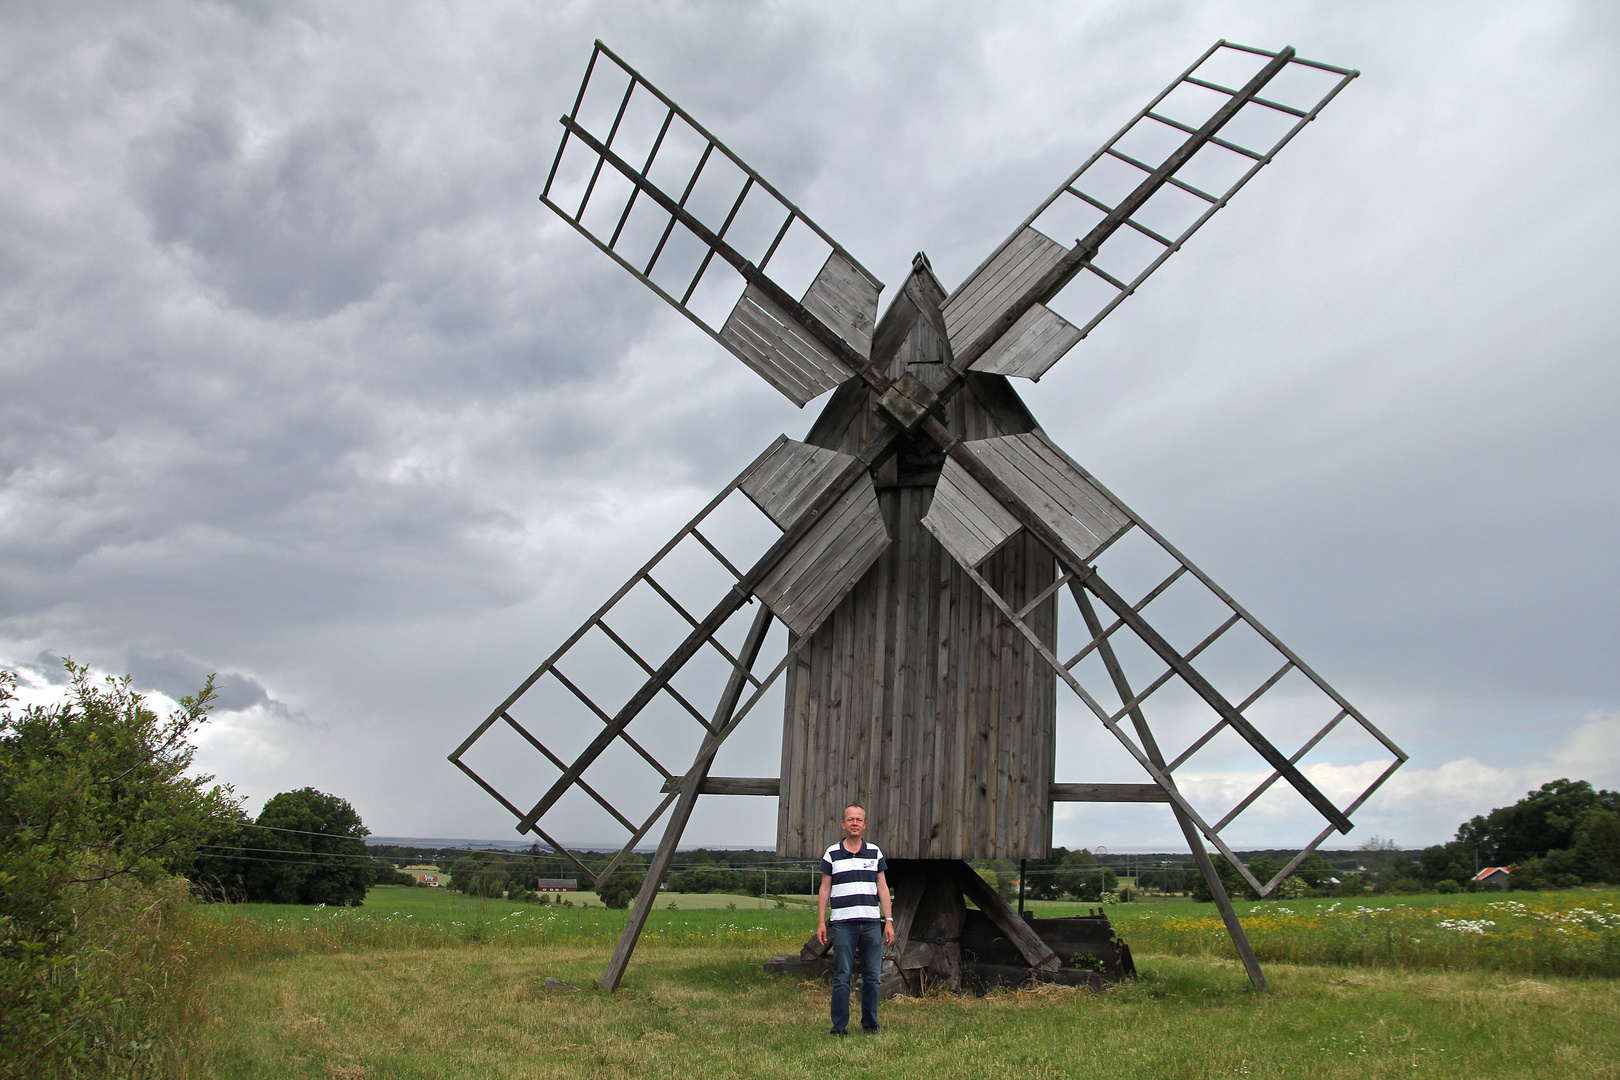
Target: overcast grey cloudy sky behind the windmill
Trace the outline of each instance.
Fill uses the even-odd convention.
[[[0,662],[36,698],[62,656],[159,699],[219,672],[199,761],[249,810],[514,839],[446,755],[821,405],[536,201],[595,37],[883,303],[919,249],[954,287],[1217,37],[1359,68],[1019,390],[1413,755],[1340,844],[1620,787],[1620,6],[0,8]],[[719,771],[774,774],[779,727]],[[1059,780],[1140,779],[1090,737]],[[774,803],[708,801],[688,842],[771,844]]]

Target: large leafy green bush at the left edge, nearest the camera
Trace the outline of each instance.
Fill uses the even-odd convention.
[[[172,973],[118,942],[178,908],[173,876],[240,813],[188,776],[212,678],[159,719],[128,677],[63,665],[66,698],[19,712],[0,672],[0,1077],[126,1072],[110,1059],[151,1044],[139,1009]]]

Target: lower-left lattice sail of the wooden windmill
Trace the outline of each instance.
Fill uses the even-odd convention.
[[[724,546],[705,531],[724,528],[732,492],[752,500],[781,529],[781,539],[748,572],[735,565],[742,549],[732,546],[727,555]],[[680,724],[692,738],[723,738],[782,674],[786,657],[760,678],[752,670],[758,643],[752,649],[727,644],[726,630],[744,622],[739,612],[750,596],[765,601],[789,631],[808,640],[888,544],[867,468],[854,455],[782,436],[491,711],[450,755],[450,761],[512,811],[520,832],[535,832],[565,858],[573,857],[541,827],[548,811],[570,793],[583,795],[606,811],[608,819],[627,834],[612,865],[596,874],[606,878],[676,800],[674,782],[684,766],[674,771],[667,764],[669,753],[654,753],[658,745],[671,745],[667,729]],[[753,547],[758,546],[755,539]],[[693,568],[693,559],[708,568],[706,576]],[[719,602],[706,617],[697,617],[690,610],[693,593],[688,589],[682,602],[677,578],[706,580],[710,596],[721,593]],[[679,627],[685,636],[674,648],[648,654],[632,638],[640,627],[659,620]],[[732,695],[724,716],[711,717],[679,687],[682,670],[705,662],[711,669],[718,665],[727,677],[739,674],[745,683],[739,687],[747,693],[742,698]],[[603,690],[593,695],[582,672],[616,675],[601,677]],[[638,675],[638,680],[625,680],[625,674]],[[632,685],[638,687],[633,693]],[[654,703],[661,708],[653,708]],[[569,722],[569,716],[577,721]],[[698,727],[684,721],[695,721]],[[593,722],[599,727],[583,748],[564,750],[541,738],[543,733],[548,738],[577,737],[582,724]],[[523,790],[501,790],[470,759],[475,745],[491,732],[505,738],[510,746],[507,755],[530,755],[528,766],[515,772],[510,761],[499,763],[504,772],[512,774],[510,782]],[[510,735],[517,735],[517,742]],[[604,755],[609,750],[617,750],[622,761],[608,763]],[[674,761],[679,766],[679,759]],[[608,789],[612,779],[622,779],[627,767],[645,772],[648,782],[643,790],[667,789],[664,797],[651,806],[620,806],[622,797],[616,801]],[[536,777],[541,784],[543,777],[554,779],[538,793],[533,789]]]

